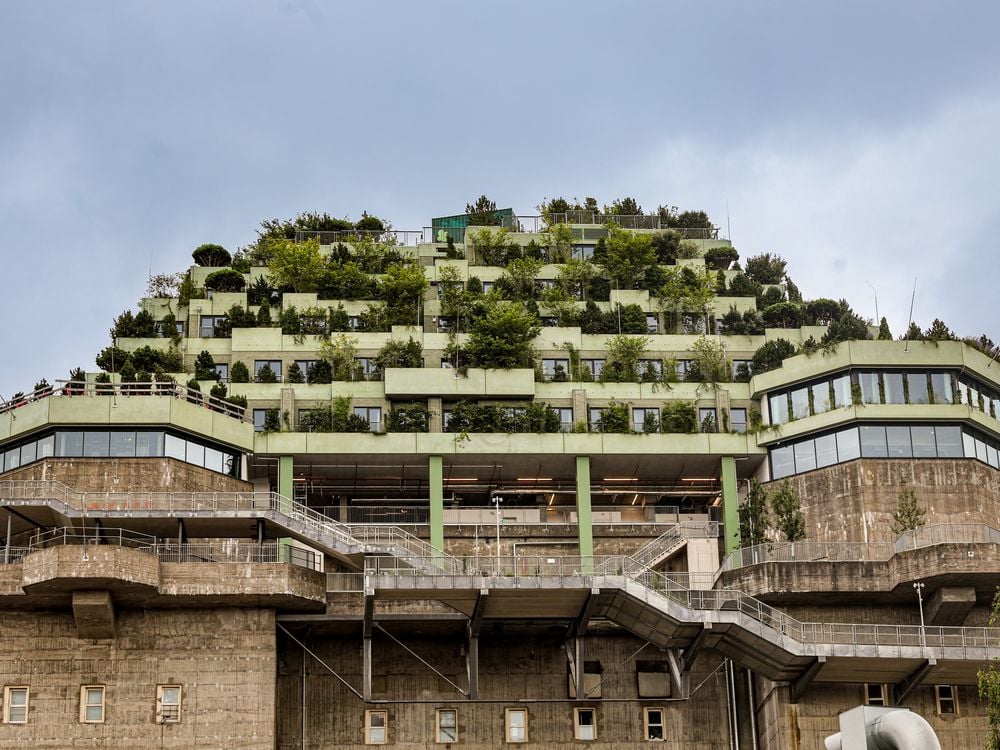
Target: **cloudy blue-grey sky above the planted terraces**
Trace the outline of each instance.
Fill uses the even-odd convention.
[[[807,297],[1000,340],[996,2],[0,0],[0,395],[202,242],[487,193],[704,209]],[[727,219],[728,210],[728,219]]]

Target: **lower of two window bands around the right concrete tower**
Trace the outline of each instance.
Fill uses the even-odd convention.
[[[857,425],[772,448],[771,478],[855,458],[976,458],[1000,469],[1000,441],[958,425]]]

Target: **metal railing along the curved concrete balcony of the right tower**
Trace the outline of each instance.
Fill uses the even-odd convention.
[[[938,544],[1000,544],[1000,530],[986,524],[929,524],[904,531],[894,542],[772,542],[742,547],[719,572],[767,562],[884,562],[906,550]]]

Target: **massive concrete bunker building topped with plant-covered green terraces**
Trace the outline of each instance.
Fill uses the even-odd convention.
[[[1000,365],[670,218],[196,252],[0,414],[0,747],[981,746]]]

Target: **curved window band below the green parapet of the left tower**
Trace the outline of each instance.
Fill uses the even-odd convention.
[[[56,430],[5,448],[0,471],[43,458],[176,458],[220,474],[239,476],[240,454],[163,430]]]

